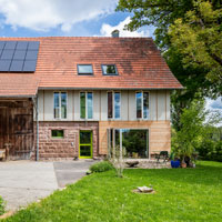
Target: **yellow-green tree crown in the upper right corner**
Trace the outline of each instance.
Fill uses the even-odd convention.
[[[222,9],[209,1],[196,1],[194,9],[170,26],[172,46],[183,56],[184,67],[203,69],[206,79],[222,93]]]

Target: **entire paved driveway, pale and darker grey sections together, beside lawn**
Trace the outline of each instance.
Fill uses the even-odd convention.
[[[0,162],[0,195],[7,210],[18,210],[80,180],[93,160]]]

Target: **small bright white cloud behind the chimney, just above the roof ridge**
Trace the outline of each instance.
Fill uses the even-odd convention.
[[[103,23],[100,30],[101,36],[110,37],[111,32],[115,29],[120,31],[120,37],[150,37],[150,32],[147,30],[137,30],[137,31],[128,31],[124,30],[124,26],[130,22],[130,17],[127,17],[125,20],[121,21],[118,26],[110,26],[108,23]]]

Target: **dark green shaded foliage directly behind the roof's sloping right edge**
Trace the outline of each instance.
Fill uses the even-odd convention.
[[[213,98],[219,85],[205,78],[208,72],[203,68],[183,67],[183,57],[176,48],[171,47],[163,56],[175,78],[186,88],[171,93],[171,120],[174,129],[180,130],[182,110],[189,108],[194,99]]]

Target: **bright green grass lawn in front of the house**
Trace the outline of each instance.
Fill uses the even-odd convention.
[[[152,184],[154,194],[131,191]],[[125,170],[93,173],[19,211],[10,222],[218,222],[222,221],[222,163],[196,169]]]

